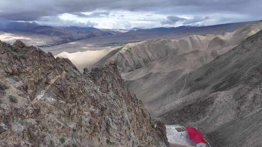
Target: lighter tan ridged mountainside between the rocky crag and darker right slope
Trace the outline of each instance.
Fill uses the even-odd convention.
[[[188,73],[226,53],[261,29],[262,22],[257,22],[219,35],[192,35],[178,40],[131,43],[112,51],[96,65],[116,62],[122,78],[154,118],[164,114],[166,105],[180,97]],[[173,84],[179,79],[183,83],[181,87],[176,87],[180,94],[173,96]]]

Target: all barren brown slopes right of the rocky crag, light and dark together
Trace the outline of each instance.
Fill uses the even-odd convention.
[[[195,126],[212,147],[259,147],[261,29],[127,44],[97,66],[116,62],[153,122]]]

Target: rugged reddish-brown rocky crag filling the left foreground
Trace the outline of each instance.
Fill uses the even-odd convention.
[[[82,74],[68,59],[0,42],[0,83],[0,147],[167,147],[115,64]]]

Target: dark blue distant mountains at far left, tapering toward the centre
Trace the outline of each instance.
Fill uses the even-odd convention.
[[[53,42],[48,44],[42,44],[38,46],[52,46],[58,44],[64,44],[72,41],[113,35],[107,31],[96,28],[81,28],[75,26],[69,27],[51,27],[41,26],[36,23],[24,23],[24,22],[9,22],[0,26],[0,31],[9,32],[13,34],[26,34],[26,35],[45,35],[49,37],[57,37]]]

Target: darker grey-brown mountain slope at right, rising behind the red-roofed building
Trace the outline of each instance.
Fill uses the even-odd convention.
[[[170,86],[164,123],[195,126],[212,147],[262,146],[262,31]]]

